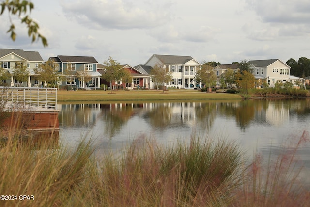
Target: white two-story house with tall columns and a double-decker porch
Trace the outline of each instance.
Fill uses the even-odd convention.
[[[173,78],[167,83],[167,87],[192,89],[196,84],[196,71],[202,65],[191,56],[180,55],[152,55],[144,65],[154,67],[156,64],[168,68],[172,72]]]

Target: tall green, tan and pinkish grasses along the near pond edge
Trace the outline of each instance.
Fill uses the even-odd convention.
[[[34,144],[9,136],[0,148],[0,191],[34,199],[0,205],[306,206],[310,192],[299,185],[294,164],[308,139],[304,132],[294,150],[249,163],[237,144],[221,139],[158,146],[141,136],[117,155],[95,156],[91,142],[68,149],[51,139]]]

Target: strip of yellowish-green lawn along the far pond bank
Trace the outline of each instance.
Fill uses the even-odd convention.
[[[241,99],[238,94],[203,93],[196,90],[141,90],[141,91],[103,91],[103,90],[78,90],[57,92],[58,102],[111,102],[111,101],[157,101],[157,100],[227,100]]]

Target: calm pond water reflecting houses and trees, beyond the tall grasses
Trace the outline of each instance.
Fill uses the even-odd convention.
[[[60,104],[60,141],[91,138],[97,150],[119,150],[135,138],[156,143],[189,141],[191,135],[236,141],[252,156],[276,155],[310,131],[310,99],[230,100],[111,104]],[[308,136],[309,138],[309,136]],[[298,154],[310,169],[310,144]]]

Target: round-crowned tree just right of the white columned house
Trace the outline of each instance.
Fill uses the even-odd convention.
[[[198,82],[207,85],[209,88],[215,85],[217,81],[217,75],[213,72],[213,67],[209,65],[202,65],[201,69],[196,72],[195,78]]]

